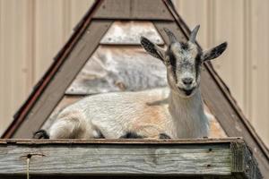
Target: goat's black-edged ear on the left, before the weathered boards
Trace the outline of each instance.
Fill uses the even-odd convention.
[[[151,40],[148,38],[141,37],[140,38],[140,43],[142,47],[149,53],[150,55],[161,59],[162,62],[164,62],[165,58],[165,50],[156,44],[154,44]]]

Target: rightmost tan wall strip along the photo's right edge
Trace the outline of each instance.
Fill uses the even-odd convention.
[[[250,13],[250,50],[249,69],[251,76],[250,96],[251,107],[250,115],[252,124],[256,131],[265,139],[269,146],[269,21],[268,8],[269,2],[265,0],[249,1]]]

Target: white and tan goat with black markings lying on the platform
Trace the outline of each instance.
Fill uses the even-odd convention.
[[[199,90],[202,64],[218,57],[227,42],[202,52],[195,44],[199,25],[186,43],[164,29],[167,49],[141,37],[142,47],[167,68],[168,88],[114,92],[82,98],[65,107],[48,132],[35,138],[199,138],[209,133]]]

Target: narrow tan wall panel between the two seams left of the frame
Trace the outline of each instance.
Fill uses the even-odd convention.
[[[35,2],[35,81],[48,69],[64,44],[64,0]]]

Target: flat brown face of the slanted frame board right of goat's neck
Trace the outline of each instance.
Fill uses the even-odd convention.
[[[210,80],[212,77],[208,72],[203,72],[201,88],[203,96],[206,97],[205,104],[209,107],[213,114],[219,119],[219,123],[223,127],[228,136],[242,136],[247,141],[247,145],[252,149],[254,156],[257,158],[261,172],[265,175],[269,171],[268,157],[264,146],[258,145],[253,135],[248,132],[244,123],[242,123],[239,114],[237,114],[227,100],[220,100],[223,93],[218,90],[218,86]],[[206,81],[206,82],[205,82]],[[214,94],[210,91],[216,91]],[[219,98],[218,101],[215,99]],[[216,115],[218,114],[218,115]],[[221,119],[221,120],[220,120]],[[234,127],[230,127],[234,126]]]

